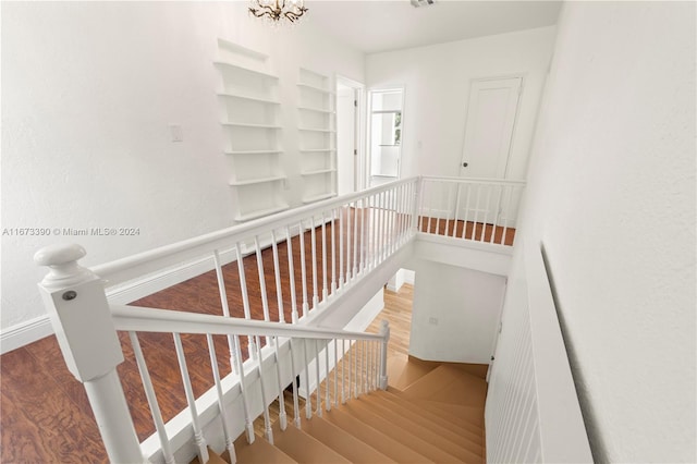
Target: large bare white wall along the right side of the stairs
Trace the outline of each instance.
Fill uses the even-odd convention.
[[[597,462],[695,462],[695,3],[570,2],[535,138],[541,241]]]

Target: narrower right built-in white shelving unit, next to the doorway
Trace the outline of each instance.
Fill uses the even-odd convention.
[[[337,94],[333,80],[301,68],[297,83],[302,202],[337,195]]]

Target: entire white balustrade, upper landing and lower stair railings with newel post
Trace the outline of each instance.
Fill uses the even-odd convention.
[[[77,264],[86,255],[78,245],[42,248],[35,260],[50,271],[39,290],[66,365],[85,384],[109,459],[172,463],[181,457],[182,443],[189,442],[205,463],[209,457],[206,427],[211,417],[220,417],[224,447],[234,461],[233,441],[245,434],[253,442],[253,422],[258,416],[264,416],[265,436],[273,442],[269,404],[276,399],[280,428],[286,428],[286,387],[292,386],[292,420],[297,427],[301,394],[306,398],[309,418],[321,416],[322,408],[386,389],[389,327],[383,325],[378,334],[319,328],[314,325],[317,315],[330,310],[371,273],[377,274],[374,271],[394,259],[418,231],[442,232],[441,221],[450,239],[499,243],[494,231],[502,227],[502,236],[506,236],[522,188],[522,183],[510,181],[413,178],[91,269]],[[448,192],[445,197],[443,192]],[[469,200],[473,193],[474,203]],[[485,203],[479,202],[482,196]],[[498,212],[488,222],[487,208],[492,205]],[[467,232],[469,219],[472,233]],[[451,222],[455,224],[452,231]],[[487,224],[493,228],[485,239]],[[215,274],[218,284],[219,314],[124,304],[206,271]],[[231,289],[239,293],[231,295]],[[143,443],[117,373],[124,361],[118,332],[127,333],[156,429]],[[147,346],[140,344],[144,332],[172,335],[187,405],[170,422],[160,411],[152,367],[144,353]],[[183,342],[183,337],[192,334],[206,338],[210,355],[212,387],[198,398]],[[222,357],[230,367],[224,377],[213,339],[219,335],[225,338]],[[242,420],[235,418],[240,410]]]

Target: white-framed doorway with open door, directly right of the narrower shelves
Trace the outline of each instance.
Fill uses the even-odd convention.
[[[364,85],[337,76],[337,188],[339,195],[364,188],[362,111]]]

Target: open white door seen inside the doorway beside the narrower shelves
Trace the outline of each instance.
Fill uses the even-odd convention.
[[[339,84],[337,88],[337,158],[339,195],[356,191],[356,90]]]

